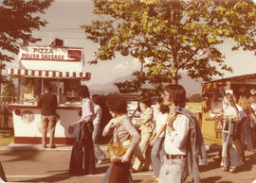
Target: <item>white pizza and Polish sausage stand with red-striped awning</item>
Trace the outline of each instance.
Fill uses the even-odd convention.
[[[91,76],[83,71],[83,48],[21,46],[18,61],[19,68],[8,68],[6,71],[7,75],[18,80],[18,97],[9,105],[13,116],[14,142],[41,143],[41,110],[37,101],[47,84],[57,95],[59,104],[55,143],[72,144],[78,129],[70,132],[68,127],[81,118],[79,88],[82,81],[89,80]]]

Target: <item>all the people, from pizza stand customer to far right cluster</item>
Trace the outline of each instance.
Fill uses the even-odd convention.
[[[112,119],[101,129],[101,106],[99,95],[90,96],[82,86],[82,118],[72,123],[83,130],[83,175],[93,175],[96,163],[106,160],[106,154],[99,146],[99,138],[112,136],[113,142],[131,140],[128,150],[112,161],[102,183],[133,182],[131,173],[153,170],[158,182],[184,182],[188,176],[192,182],[200,182],[198,165],[206,165],[207,154],[201,129],[196,117],[185,108],[186,91],[181,85],[170,84],[153,105],[150,96],[139,99],[140,117],[138,127],[128,114],[127,101],[118,93],[110,93],[105,105]],[[53,103],[54,105],[52,105]],[[44,109],[44,105],[47,110]],[[48,107],[51,107],[49,110]],[[54,125],[56,98],[48,93],[41,96],[42,123],[50,129],[50,147],[54,148]],[[223,171],[235,173],[245,163],[245,151],[255,150],[256,138],[256,90],[250,96],[240,95],[238,100],[227,91],[222,100],[222,160]],[[53,118],[52,118],[53,119]],[[51,123],[52,121],[52,123]],[[46,136],[43,133],[43,146]]]

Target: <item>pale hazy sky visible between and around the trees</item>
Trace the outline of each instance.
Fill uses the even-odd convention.
[[[255,0],[256,1],[256,0]],[[49,45],[55,38],[63,39],[65,46],[83,47],[85,62],[94,59],[94,52],[98,45],[85,38],[84,31],[79,25],[90,24],[96,15],[92,13],[93,4],[90,0],[55,0],[53,5],[42,15],[48,22],[46,27],[33,34],[42,38],[36,45]],[[256,56],[253,52],[231,51],[233,42],[227,41],[219,48],[226,56],[227,63],[234,72],[224,77],[247,75],[256,73]],[[100,61],[97,65],[85,65],[85,72],[91,73],[91,80],[87,85],[104,84],[116,77],[130,75],[139,68],[137,58],[122,57],[119,53],[112,60]],[[18,67],[17,60],[8,67]]]

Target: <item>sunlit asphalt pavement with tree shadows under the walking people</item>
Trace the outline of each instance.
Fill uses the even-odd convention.
[[[41,145],[0,147],[0,160],[9,182],[98,183],[106,172],[109,161],[97,164],[96,175],[68,174],[71,146],[57,145],[44,149]],[[106,147],[102,147],[105,151]],[[256,152],[246,152],[246,163],[237,173],[220,169],[220,146],[207,146],[209,165],[200,166],[202,183],[251,183],[256,179]],[[152,171],[133,174],[135,183],[156,183]],[[186,183],[189,183],[189,179]]]

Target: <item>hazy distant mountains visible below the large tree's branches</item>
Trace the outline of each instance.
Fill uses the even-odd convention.
[[[201,92],[201,84],[199,82],[196,82],[194,79],[192,79],[190,76],[181,74],[182,78],[179,80],[179,84],[181,84],[185,90],[187,91],[187,94],[192,92]],[[116,82],[122,82],[127,79],[132,78],[132,75],[125,75],[125,76],[118,76],[113,81],[110,81],[105,84],[92,84],[89,86],[91,93],[108,93],[108,92],[114,92],[119,91],[118,88],[114,85]]]

